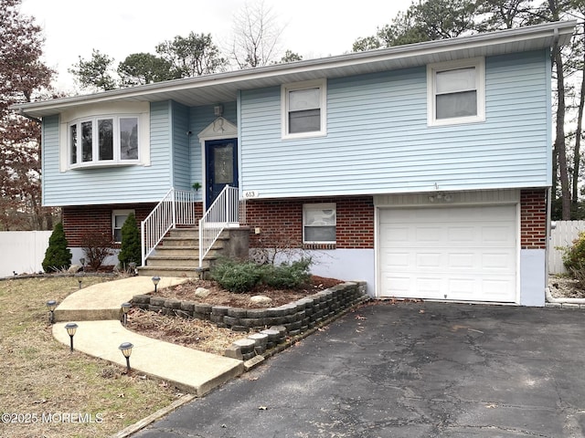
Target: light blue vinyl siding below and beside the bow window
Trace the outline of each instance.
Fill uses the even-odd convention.
[[[58,117],[43,120],[43,202],[48,206],[152,203],[171,187],[171,104],[151,106],[151,165],[59,172]]]

